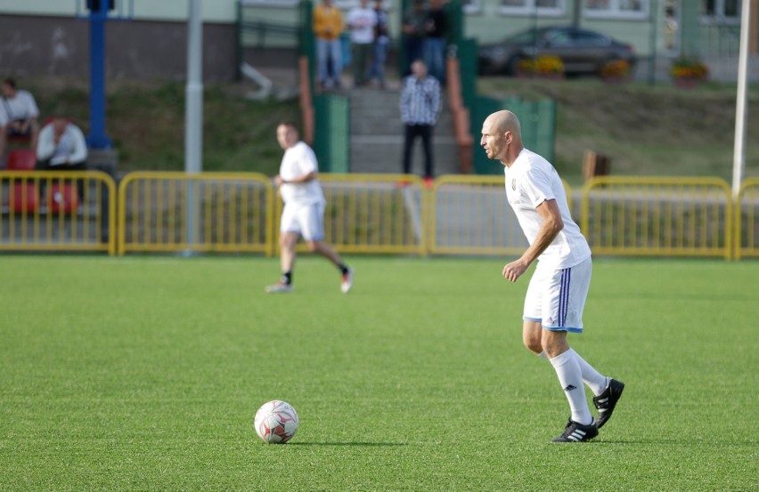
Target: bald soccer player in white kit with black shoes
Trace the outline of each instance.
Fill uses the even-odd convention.
[[[583,332],[591,248],[569,214],[559,173],[524,148],[513,113],[504,110],[487,117],[480,145],[488,158],[505,166],[506,197],[530,245],[518,260],[503,267],[503,277],[516,282],[539,260],[527,287],[522,339],[529,350],[551,361],[569,400],[572,415],[553,442],[592,440],[614,412],[624,383],[601,375],[567,343],[567,332]],[[588,408],[583,383],[595,395],[598,421]]]

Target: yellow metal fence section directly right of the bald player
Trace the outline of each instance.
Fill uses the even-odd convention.
[[[594,178],[583,191],[582,229],[594,254],[732,254],[732,198],[716,178]]]

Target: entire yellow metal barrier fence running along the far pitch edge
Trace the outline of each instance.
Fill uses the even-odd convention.
[[[322,174],[325,239],[355,254],[521,254],[500,176]],[[0,172],[0,251],[275,254],[282,201],[257,173]],[[572,194],[567,197],[571,200]],[[573,209],[594,254],[759,257],[759,179],[599,177]],[[118,199],[117,199],[118,198]],[[576,198],[576,196],[575,196]],[[571,207],[571,206],[570,206]]]

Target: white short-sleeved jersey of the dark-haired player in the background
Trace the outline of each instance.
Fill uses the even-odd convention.
[[[280,165],[280,176],[285,181],[294,180],[304,174],[318,171],[316,156],[305,141],[298,141],[285,150]],[[285,203],[314,204],[323,203],[324,193],[319,181],[311,180],[299,183],[284,183],[280,188]]]

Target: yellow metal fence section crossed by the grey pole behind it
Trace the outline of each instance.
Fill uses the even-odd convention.
[[[130,173],[118,186],[118,253],[273,252],[273,189],[257,173]]]

